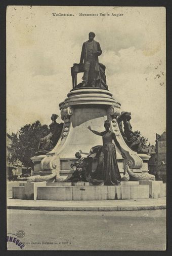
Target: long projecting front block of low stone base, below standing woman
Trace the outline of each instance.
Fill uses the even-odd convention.
[[[37,188],[38,200],[115,200],[149,198],[148,185],[47,186]]]

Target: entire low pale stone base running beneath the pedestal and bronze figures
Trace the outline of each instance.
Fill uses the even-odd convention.
[[[140,184],[139,184],[140,182]],[[120,186],[94,186],[89,182],[26,182],[13,187],[14,199],[114,200],[166,196],[162,181],[122,181]]]

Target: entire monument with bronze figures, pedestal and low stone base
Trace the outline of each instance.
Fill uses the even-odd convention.
[[[34,176],[13,187],[15,199],[114,200],[165,195],[162,181],[148,173],[150,157],[139,153],[131,113],[121,113],[120,103],[108,90],[105,66],[98,60],[102,50],[94,38],[90,32],[80,63],[71,67],[72,90],[59,103],[64,121],[60,137],[55,136],[57,143],[52,140],[53,127],[57,128],[53,115],[50,134],[40,140],[31,158]],[[83,72],[79,84],[78,72]]]

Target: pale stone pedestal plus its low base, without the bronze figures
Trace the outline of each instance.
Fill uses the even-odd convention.
[[[118,103],[108,90],[97,88],[74,89],[59,104],[61,117],[64,120],[63,130],[55,148],[46,155],[32,159],[34,174],[48,175],[56,173],[56,180],[69,178],[74,172],[71,163],[76,161],[75,153],[80,151],[87,157],[91,148],[102,145],[102,136],[92,133],[88,126],[97,131],[104,130],[104,121],[110,123],[110,130],[115,133],[125,154],[116,148],[116,158],[121,177],[125,171],[143,174],[148,172],[149,156],[137,154],[125,144],[120,133],[117,116],[120,114]],[[130,173],[129,173],[130,174]],[[142,176],[142,175],[141,175]],[[139,175],[139,177],[141,177]],[[104,182],[102,182],[104,185]],[[156,198],[156,184],[151,182],[122,181],[120,186],[95,186],[91,182],[30,182],[13,188],[13,198],[38,200],[114,200]],[[164,195],[164,187],[161,194]],[[158,196],[159,197],[159,192]]]

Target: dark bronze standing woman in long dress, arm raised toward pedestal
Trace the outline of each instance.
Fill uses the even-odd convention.
[[[103,147],[101,148],[101,153],[98,159],[98,166],[96,171],[92,174],[92,177],[97,180],[104,180],[104,185],[119,185],[121,181],[121,176],[119,173],[119,168],[116,160],[116,150],[115,145],[112,143],[114,140],[117,148],[121,152],[121,147],[119,142],[116,139],[115,133],[110,131],[110,123],[109,121],[105,121],[104,123],[105,131],[98,132],[92,130],[90,126],[88,129],[92,131],[94,134],[102,136],[103,139]],[[123,158],[125,155],[121,152]]]

